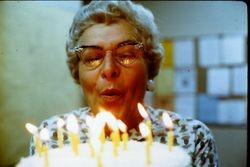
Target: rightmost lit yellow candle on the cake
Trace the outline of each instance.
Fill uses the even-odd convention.
[[[173,144],[174,144],[174,132],[173,132],[173,122],[171,118],[169,117],[167,112],[164,112],[162,115],[162,119],[166,127],[168,128],[168,149],[169,151],[172,150]]]

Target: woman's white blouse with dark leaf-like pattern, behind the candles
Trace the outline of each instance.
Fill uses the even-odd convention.
[[[167,129],[162,123],[162,113],[166,112],[163,109],[153,109],[146,106],[149,118],[152,122],[153,140],[160,143],[168,143]],[[174,112],[167,111],[174,124],[174,145],[179,145],[187,152],[192,158],[192,166],[219,166],[218,155],[215,145],[215,140],[211,131],[202,122],[194,119],[186,119]],[[39,127],[39,131],[42,128],[48,128],[50,132],[49,147],[57,148],[57,120],[59,118],[66,121],[70,114],[74,114],[78,119],[80,126],[80,142],[85,143],[88,140],[87,133],[88,128],[86,125],[86,116],[91,115],[89,107],[80,108],[70,113],[66,113],[61,116],[53,116],[47,120],[44,120]],[[140,132],[132,129],[129,131],[130,140],[143,141],[143,137]],[[63,127],[63,139],[64,144],[69,144],[69,138],[67,136],[66,126]],[[35,153],[35,144],[33,138],[30,143],[30,155]]]

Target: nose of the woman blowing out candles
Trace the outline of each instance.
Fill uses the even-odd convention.
[[[102,64],[101,76],[107,80],[112,80],[117,78],[119,75],[120,68],[117,66],[111,51],[107,51]]]

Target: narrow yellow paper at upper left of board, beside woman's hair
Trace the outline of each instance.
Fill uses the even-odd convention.
[[[162,60],[162,67],[173,67],[173,41],[164,40],[162,41],[162,46],[164,48],[164,57]]]

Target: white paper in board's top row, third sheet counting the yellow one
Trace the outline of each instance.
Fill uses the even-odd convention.
[[[220,40],[218,36],[201,37],[198,44],[199,65],[201,67],[220,64]]]

